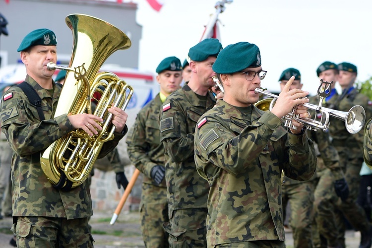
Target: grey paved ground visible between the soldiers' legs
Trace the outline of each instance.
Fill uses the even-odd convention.
[[[139,229],[139,215],[137,212],[121,213],[117,222],[110,225],[111,213],[95,213],[90,224],[92,225],[95,248],[144,248]],[[9,241],[12,238],[10,232],[12,219],[0,220],[0,247],[12,248]],[[292,233],[286,233],[287,248],[293,248]],[[347,231],[347,248],[359,247],[360,238],[354,231]]]

